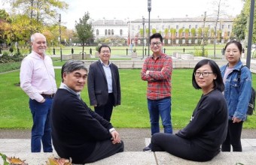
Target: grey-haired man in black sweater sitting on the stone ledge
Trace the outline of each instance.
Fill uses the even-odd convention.
[[[62,83],[53,100],[53,146],[72,163],[90,163],[123,151],[123,141],[110,122],[94,113],[80,98],[87,80],[84,62],[62,66]]]

